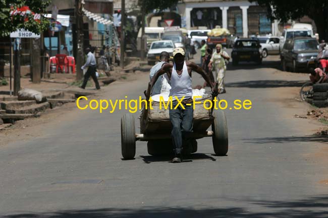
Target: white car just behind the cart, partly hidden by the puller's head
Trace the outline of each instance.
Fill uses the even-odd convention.
[[[149,65],[154,65],[159,60],[159,54],[162,51],[169,52],[170,56],[173,56],[173,49],[176,46],[172,40],[160,40],[151,43],[147,53],[147,61]]]

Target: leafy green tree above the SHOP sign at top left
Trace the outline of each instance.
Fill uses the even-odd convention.
[[[22,28],[37,34],[46,30],[49,21],[35,14],[46,13],[49,4],[49,0],[0,0],[0,36]]]

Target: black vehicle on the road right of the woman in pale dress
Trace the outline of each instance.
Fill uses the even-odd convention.
[[[239,61],[255,61],[262,64],[262,49],[260,41],[253,39],[238,39],[231,52],[232,64],[237,65]]]

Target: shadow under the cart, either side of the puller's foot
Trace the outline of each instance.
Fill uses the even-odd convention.
[[[142,160],[146,164],[150,164],[152,162],[171,162],[172,159],[174,158],[173,155],[166,155],[166,156],[140,156]],[[211,160],[211,161],[216,161],[215,158],[205,155],[205,154],[191,154],[189,156],[184,157],[183,162],[192,162],[196,160]]]

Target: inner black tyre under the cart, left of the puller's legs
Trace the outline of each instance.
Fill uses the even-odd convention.
[[[172,140],[151,140],[147,142],[149,155],[161,156],[173,154]]]

